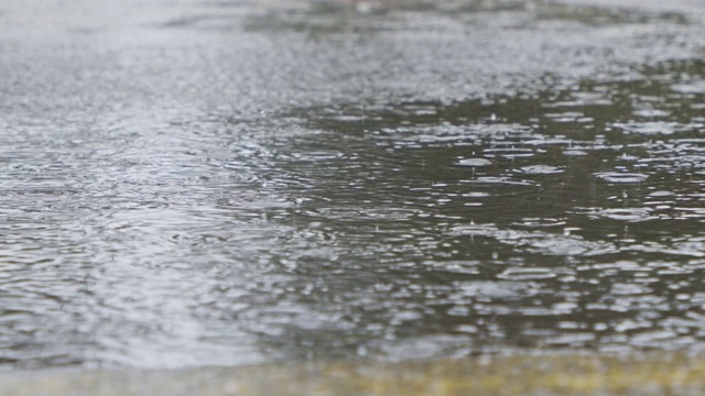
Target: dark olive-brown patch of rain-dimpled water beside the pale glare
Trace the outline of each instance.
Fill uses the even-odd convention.
[[[705,68],[701,62],[665,63],[639,73],[643,79],[584,80],[527,99],[370,102],[355,120],[348,114],[360,114],[360,103],[299,110],[294,117],[326,131],[326,144],[343,153],[323,173],[335,178],[310,191],[322,200],[311,211],[304,205],[302,213],[330,228],[357,224],[345,234],[377,252],[368,271],[393,274],[388,282],[397,288],[417,288],[411,295],[426,308],[416,331],[473,329],[457,345],[466,353],[508,345],[694,346],[696,327],[664,323],[696,309],[676,290],[694,292],[698,271],[679,275],[674,286],[642,267],[658,261],[703,265],[696,158],[705,125],[693,121],[699,117],[693,105],[705,97],[674,94],[664,75],[698,81]],[[634,114],[644,101],[670,109],[669,128]],[[307,144],[321,143],[304,139],[297,150]],[[359,189],[349,186],[360,179],[373,193],[355,199]],[[335,212],[323,209],[328,206]],[[356,221],[360,207],[375,207],[378,216]],[[412,215],[403,222],[384,216],[404,208]],[[365,237],[371,230],[384,232]],[[414,256],[430,255],[438,283],[412,280]],[[615,261],[621,264],[605,267]],[[481,264],[469,275],[446,262]],[[444,283],[443,276],[464,280]],[[383,300],[405,304],[393,294]],[[621,324],[640,318],[649,318],[644,329]],[[575,329],[562,327],[568,321]],[[600,330],[585,331],[595,328]],[[395,338],[409,328],[398,331]]]

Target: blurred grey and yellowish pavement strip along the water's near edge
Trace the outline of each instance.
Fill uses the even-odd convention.
[[[680,353],[329,362],[0,375],[0,395],[702,395],[705,360]]]

